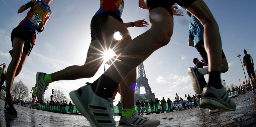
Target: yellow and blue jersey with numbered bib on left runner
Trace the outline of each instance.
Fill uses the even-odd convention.
[[[45,22],[46,17],[51,16],[52,11],[49,5],[44,4],[42,0],[37,1],[34,6],[31,7],[25,19],[21,21],[20,25],[32,28],[38,34],[39,21]]]

